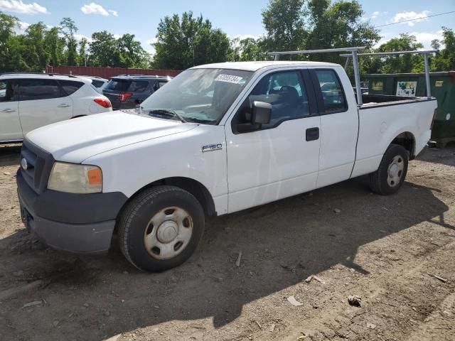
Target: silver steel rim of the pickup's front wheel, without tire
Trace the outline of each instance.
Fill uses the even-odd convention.
[[[149,221],[144,232],[144,244],[156,259],[171,259],[183,251],[193,234],[193,220],[180,207],[166,207]]]

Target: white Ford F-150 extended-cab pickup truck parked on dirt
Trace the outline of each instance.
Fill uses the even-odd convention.
[[[134,266],[163,271],[191,256],[206,216],[364,174],[375,193],[395,193],[436,109],[432,97],[364,94],[358,105],[336,64],[193,67],[138,110],[28,133],[22,219],[50,247],[77,253],[105,252],[117,233]]]

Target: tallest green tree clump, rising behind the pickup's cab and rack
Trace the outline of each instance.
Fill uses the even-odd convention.
[[[319,50],[366,46],[371,48],[379,39],[368,21],[361,21],[362,7],[358,1],[331,0],[270,0],[262,11],[262,22],[267,31],[262,45],[272,50]],[[284,56],[282,59],[309,58],[310,60],[342,63],[338,55]]]

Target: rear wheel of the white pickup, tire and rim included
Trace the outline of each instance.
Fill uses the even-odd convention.
[[[382,156],[378,171],[370,174],[370,188],[374,193],[390,195],[400,190],[405,182],[409,155],[398,144],[392,144]]]

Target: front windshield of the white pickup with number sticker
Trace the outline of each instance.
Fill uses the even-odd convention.
[[[183,71],[166,87],[142,102],[141,114],[168,119],[180,116],[187,122],[217,124],[252,74],[250,71],[227,69]]]

